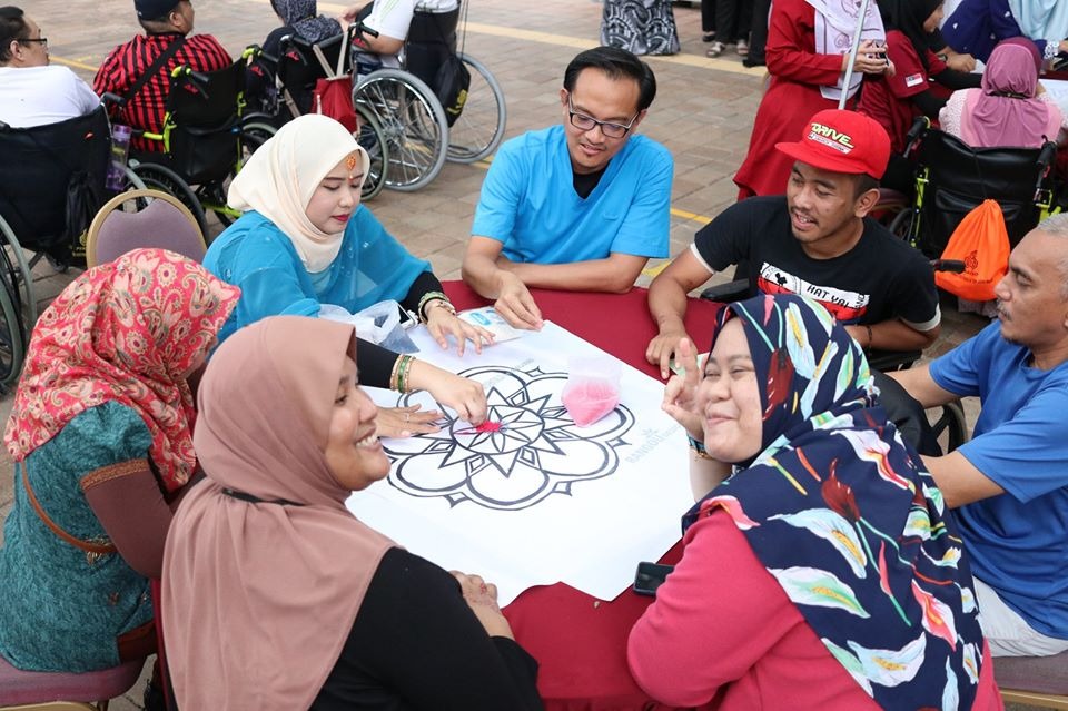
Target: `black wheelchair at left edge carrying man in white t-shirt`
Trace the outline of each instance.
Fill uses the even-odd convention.
[[[85,233],[112,195],[107,187],[111,126],[103,106],[33,128],[0,124],[0,387],[18,379],[37,323],[32,269],[85,266]],[[18,170],[13,168],[18,166]],[[145,187],[126,169],[122,189]],[[26,250],[33,253],[27,260]]]

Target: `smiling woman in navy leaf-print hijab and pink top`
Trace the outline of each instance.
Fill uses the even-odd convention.
[[[860,347],[798,296],[722,318],[664,393],[698,503],[631,631],[634,680],[672,708],[1001,709],[970,551]]]

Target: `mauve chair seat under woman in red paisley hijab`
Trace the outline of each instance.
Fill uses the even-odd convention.
[[[144,660],[127,662],[112,669],[83,673],[28,672],[16,669],[0,656],[0,711],[9,707],[20,710],[83,710],[88,703],[121,697],[140,678]]]

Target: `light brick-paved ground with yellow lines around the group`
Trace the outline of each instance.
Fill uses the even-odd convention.
[[[764,80],[761,69],[742,67],[733,53],[704,57],[700,12],[693,4],[675,9],[682,52],[649,60],[659,90],[641,126],[641,132],[663,142],[675,157],[672,254],[685,248],[696,229],[733,201],[731,177],[744,157]],[[137,30],[131,6],[128,0],[23,3],[48,37],[52,60],[90,81],[107,51]],[[197,29],[216,34],[231,53],[261,41],[276,27],[268,0],[197,0],[195,6]],[[320,11],[327,13],[343,7],[319,2]],[[577,51],[599,43],[600,17],[600,3],[591,0],[471,0],[465,51],[482,60],[500,81],[507,98],[507,136],[561,120],[557,92],[564,67]],[[447,165],[423,190],[387,190],[372,208],[413,254],[433,263],[438,276],[458,278],[485,167]],[[640,283],[647,283],[657,266],[650,265]],[[47,266],[38,273],[43,307],[70,276],[53,275]],[[985,323],[958,315],[949,305],[943,310],[942,336],[931,347],[932,355],[957,345]],[[0,422],[6,422],[10,407],[10,395],[0,399]],[[10,511],[11,498],[11,463],[3,453],[0,520]],[[139,708],[140,685],[111,705],[115,711]]]

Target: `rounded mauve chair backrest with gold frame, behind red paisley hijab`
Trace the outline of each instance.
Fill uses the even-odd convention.
[[[132,204],[137,211],[123,211]],[[128,190],[100,208],[89,226],[86,261],[90,267],[113,261],[131,249],[158,247],[201,261],[204,235],[185,205],[159,190]]]

